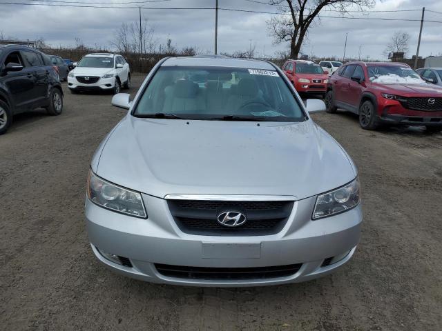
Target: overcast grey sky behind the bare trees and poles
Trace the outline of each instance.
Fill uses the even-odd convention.
[[[68,1],[68,0],[64,0]],[[75,0],[69,0],[75,1]],[[79,2],[98,3],[112,0],[78,0]],[[113,0],[130,2],[141,0]],[[265,0],[260,0],[265,1]],[[43,1],[15,0],[0,2],[44,3]],[[62,2],[62,1],[61,1]],[[311,1],[312,3],[314,1]],[[48,2],[46,2],[48,3]],[[171,0],[145,3],[145,7],[213,7],[215,0]],[[439,6],[437,6],[439,4]],[[384,0],[377,1],[372,10],[426,10],[425,19],[442,21],[441,0]],[[99,6],[99,5],[97,5]],[[106,5],[102,5],[106,6]],[[115,6],[134,6],[133,4]],[[246,0],[219,0],[220,8],[239,8],[275,12],[275,6],[251,3]],[[142,10],[155,37],[165,43],[168,35],[177,48],[196,46],[200,50],[213,52],[214,10]],[[321,12],[323,16],[337,16],[336,12]],[[349,15],[348,15],[349,16]],[[352,14],[361,17],[361,14]],[[266,20],[271,14],[230,12],[220,10],[218,15],[218,52],[234,52],[249,49],[250,42],[256,45],[261,56],[274,54],[287,48],[287,44],[273,45],[267,32]],[[365,17],[389,19],[421,19],[421,12],[375,12]],[[122,22],[138,20],[137,9],[68,8],[49,6],[13,6],[0,3],[0,32],[18,39],[37,39],[43,37],[51,46],[73,46],[75,37],[81,38],[86,45],[108,46],[113,32]],[[309,38],[302,50],[306,54],[343,57],[345,34],[348,34],[346,57],[384,59],[383,50],[394,31],[408,32],[410,57],[416,52],[419,36],[419,21],[367,21],[356,19],[322,18],[316,20],[309,30]],[[250,41],[251,39],[251,41]],[[442,23],[425,22],[423,26],[420,55],[442,54]]]

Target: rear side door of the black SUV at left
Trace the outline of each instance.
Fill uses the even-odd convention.
[[[32,92],[34,96],[33,107],[46,106],[48,100],[49,85],[49,69],[45,66],[41,55],[32,50],[22,50],[21,54],[26,63],[26,67],[30,68],[30,72],[35,80],[35,87]]]

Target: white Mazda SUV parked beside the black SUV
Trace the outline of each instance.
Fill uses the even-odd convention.
[[[68,74],[70,92],[108,90],[117,94],[131,87],[129,64],[119,54],[87,54],[74,66]]]

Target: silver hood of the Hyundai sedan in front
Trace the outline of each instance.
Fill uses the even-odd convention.
[[[97,150],[100,177],[155,197],[166,194],[314,196],[352,181],[338,143],[300,123],[187,121],[126,116]],[[98,161],[99,159],[99,161]]]

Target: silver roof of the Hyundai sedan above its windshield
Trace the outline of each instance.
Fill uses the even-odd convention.
[[[222,56],[169,57],[162,66],[204,66],[204,67],[233,67],[275,70],[270,62],[254,59],[236,59]]]

